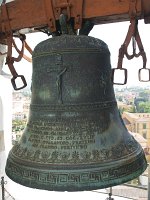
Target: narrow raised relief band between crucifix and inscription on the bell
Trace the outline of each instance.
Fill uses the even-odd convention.
[[[42,110],[42,111],[92,111],[92,110],[102,110],[106,108],[111,108],[117,106],[116,101],[106,101],[100,103],[91,103],[91,104],[78,104],[78,105],[41,105],[41,104],[31,104],[30,109]]]

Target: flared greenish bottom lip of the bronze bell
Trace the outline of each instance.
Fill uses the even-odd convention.
[[[141,152],[141,156],[142,153],[143,152]],[[91,174],[90,172],[86,172],[85,170],[80,170],[80,175],[77,171],[76,173],[73,172],[73,170],[70,170],[70,172],[66,171],[66,173],[61,173],[60,171],[57,171],[57,173],[49,172],[47,174],[45,173],[45,171],[40,171],[41,174],[36,174],[35,169],[33,171],[31,171],[30,169],[26,171],[25,169],[24,172],[21,172],[18,169],[18,171],[16,171],[16,173],[18,173],[17,175],[12,170],[6,170],[6,174],[16,183],[31,188],[68,192],[90,191],[120,185],[140,176],[147,168],[146,160],[141,160],[140,158],[138,158],[136,161],[134,160],[133,163],[131,163],[132,167],[128,163],[126,164],[126,166],[123,166],[122,168],[120,168],[119,166],[118,169],[114,168],[114,170],[111,167],[110,171],[108,170],[108,172],[113,172],[112,174],[107,173],[106,169],[100,169],[99,172],[95,170],[92,171]],[[14,169],[17,170],[17,168],[15,167],[16,166],[14,166]],[[47,178],[49,180],[48,184]],[[67,182],[67,180],[69,180],[70,182]]]

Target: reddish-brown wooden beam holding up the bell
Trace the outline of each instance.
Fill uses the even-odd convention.
[[[58,0],[53,0],[54,2]],[[131,0],[84,0],[83,20],[92,20],[94,24],[129,20],[130,2]],[[69,3],[71,17],[75,17],[79,0],[69,0]],[[58,20],[56,8],[53,9],[54,17]],[[7,10],[13,31],[44,27],[48,24],[43,0],[15,0],[7,3]],[[150,0],[136,0],[136,12],[139,19],[149,19]],[[3,31],[3,23],[3,18],[0,17],[0,32]],[[150,23],[150,20],[147,20],[147,23]]]

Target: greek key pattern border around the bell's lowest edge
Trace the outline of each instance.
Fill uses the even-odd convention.
[[[117,185],[132,180],[139,176],[147,167],[145,159],[141,155],[132,163],[118,166],[107,166],[107,168],[85,169],[84,171],[62,171],[32,169],[20,166],[11,159],[7,161],[6,174],[12,180],[29,187],[46,190],[74,190],[80,186],[82,190],[85,185],[90,188],[104,188],[108,185]],[[112,183],[111,183],[112,182]],[[29,184],[29,185],[28,185]],[[42,188],[43,187],[43,188]]]

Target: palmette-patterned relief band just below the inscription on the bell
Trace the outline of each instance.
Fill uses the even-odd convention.
[[[93,149],[88,151],[86,145],[71,146],[62,143],[62,145],[58,146],[56,141],[55,144],[51,145],[51,147],[55,147],[54,149],[46,149],[46,147],[41,149],[35,147],[23,148],[21,145],[17,144],[12,149],[11,157],[18,161],[20,160],[22,164],[27,162],[32,163],[32,165],[35,163],[36,166],[38,166],[38,164],[43,166],[52,164],[55,166],[56,164],[59,168],[59,165],[61,167],[62,165],[69,166],[76,163],[78,165],[89,165],[93,163],[117,161],[125,159],[125,157],[128,157],[129,155],[137,154],[137,151],[139,151],[140,148],[135,140],[127,141],[126,144],[123,142],[119,143],[109,149],[95,149],[93,143]],[[83,148],[82,150],[79,148],[80,146]]]

